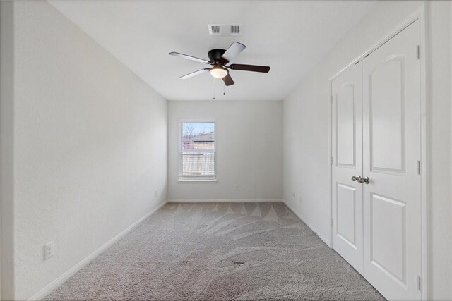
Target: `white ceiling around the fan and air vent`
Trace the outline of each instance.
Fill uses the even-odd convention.
[[[375,1],[49,1],[168,100],[281,100],[366,13]],[[242,23],[240,37],[211,37],[209,23]],[[269,73],[232,70],[225,88],[206,68],[169,56],[208,59],[234,41],[246,49],[233,63],[270,66]]]

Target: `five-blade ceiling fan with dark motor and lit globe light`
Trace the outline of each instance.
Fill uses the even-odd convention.
[[[172,56],[180,56],[184,59],[189,59],[191,61],[198,61],[200,63],[205,63],[206,65],[212,65],[211,68],[204,68],[180,77],[180,79],[185,80],[186,78],[191,78],[195,75],[199,75],[201,73],[209,72],[214,78],[222,78],[225,85],[230,86],[234,85],[234,80],[232,80],[231,75],[229,74],[229,70],[243,70],[243,71],[252,71],[252,72],[261,72],[268,73],[270,67],[268,66],[257,66],[257,65],[243,65],[239,63],[232,63],[229,66],[226,66],[227,63],[230,63],[236,56],[242,52],[246,46],[239,42],[233,42],[231,46],[225,49],[212,49],[208,52],[208,57],[210,61],[206,61],[205,59],[199,59],[195,56],[189,56],[186,54],[179,54],[179,52],[169,52]]]

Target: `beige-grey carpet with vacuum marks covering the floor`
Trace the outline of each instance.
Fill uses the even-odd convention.
[[[167,204],[47,300],[384,300],[281,203]]]

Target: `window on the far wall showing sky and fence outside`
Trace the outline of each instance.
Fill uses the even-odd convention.
[[[179,125],[179,180],[216,180],[215,123]]]

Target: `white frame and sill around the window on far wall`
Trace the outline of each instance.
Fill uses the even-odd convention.
[[[214,124],[214,133],[215,133],[215,140],[213,142],[214,149],[209,150],[208,152],[213,152],[213,176],[212,178],[206,178],[206,176],[183,176],[183,156],[182,156],[182,126],[184,123],[213,123]],[[177,182],[179,183],[217,183],[218,182],[218,174],[217,174],[217,121],[213,119],[179,119],[178,121],[178,173],[177,173]],[[185,152],[187,149],[185,150]],[[189,152],[192,150],[190,149]],[[199,152],[196,150],[193,150],[194,152]],[[196,179],[200,178],[200,179]]]

